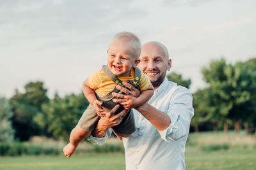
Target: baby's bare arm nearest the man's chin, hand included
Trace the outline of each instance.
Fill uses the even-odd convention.
[[[150,83],[146,90],[143,90],[138,97],[125,96],[124,102],[120,103],[126,110],[136,108],[146,103],[154,94],[154,87]]]

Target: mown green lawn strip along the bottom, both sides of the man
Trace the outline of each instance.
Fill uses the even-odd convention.
[[[256,150],[186,153],[186,169],[256,169]],[[122,153],[65,157],[1,157],[0,169],[125,169]]]

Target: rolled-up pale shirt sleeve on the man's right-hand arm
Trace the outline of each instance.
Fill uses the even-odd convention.
[[[167,112],[172,123],[168,128],[159,131],[164,141],[176,141],[188,134],[190,121],[194,115],[192,101],[191,92],[186,88],[178,90],[173,95]]]

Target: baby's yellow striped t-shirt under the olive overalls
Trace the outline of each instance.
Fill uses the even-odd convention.
[[[148,80],[147,76],[140,70],[140,81],[138,82],[140,85],[140,90],[146,90],[148,89],[150,85],[150,81]],[[128,81],[133,80],[134,77],[134,68],[131,69],[131,76],[130,77],[121,77],[118,76],[118,78],[121,81]],[[94,72],[91,76],[88,77],[90,88],[95,90],[96,94],[99,97],[106,96],[111,92],[114,88],[116,83],[114,83],[106,73],[102,69],[99,69],[98,71]]]

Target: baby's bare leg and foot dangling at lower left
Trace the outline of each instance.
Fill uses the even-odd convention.
[[[65,157],[71,157],[71,155],[75,152],[77,146],[83,139],[88,138],[90,136],[91,132],[84,131],[79,125],[76,125],[76,127],[72,130],[70,134],[68,145],[66,145],[63,148],[63,153]]]

